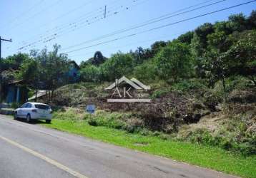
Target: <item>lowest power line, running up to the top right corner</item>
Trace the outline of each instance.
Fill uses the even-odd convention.
[[[112,41],[117,41],[117,40],[120,40],[120,39],[123,39],[123,38],[129,38],[129,37],[132,37],[132,36],[137,36],[137,35],[139,35],[139,34],[141,34],[141,33],[147,33],[147,32],[149,32],[149,31],[154,31],[154,30],[157,30],[157,29],[159,29],[159,28],[165,28],[165,27],[167,27],[167,26],[173,26],[174,24],[177,24],[177,23],[182,23],[182,22],[184,22],[184,21],[190,21],[190,20],[192,20],[192,19],[197,19],[197,18],[200,18],[200,17],[202,17],[202,16],[208,16],[208,15],[210,15],[210,14],[215,14],[215,13],[220,12],[220,11],[225,11],[225,10],[227,10],[227,9],[233,9],[233,8],[235,8],[235,7],[242,6],[242,5],[245,5],[245,4],[250,4],[250,3],[255,2],[255,1],[256,1],[256,0],[254,0],[254,1],[247,1],[247,2],[245,2],[245,3],[237,4],[237,5],[235,5],[235,6],[229,6],[229,7],[225,8],[225,9],[219,9],[219,10],[217,10],[217,11],[211,11],[211,12],[206,13],[206,14],[201,14],[201,15],[199,15],[199,16],[193,16],[193,17],[188,18],[188,19],[183,19],[182,21],[176,21],[176,22],[173,22],[173,23],[167,23],[166,25],[158,26],[158,27],[155,27],[155,28],[151,28],[151,29],[149,29],[149,30],[147,30],[147,31],[141,31],[141,32],[139,32],[139,33],[132,33],[132,34],[129,34],[129,35],[127,35],[127,36],[122,36],[122,37],[119,37],[119,38],[114,38],[114,39],[109,40],[109,41],[104,41],[104,42],[101,42],[101,43],[94,44],[94,45],[92,45],[92,46],[86,46],[86,47],[84,47],[84,48],[78,48],[78,49],[73,50],[73,51],[68,51],[67,53],[74,53],[74,52],[76,52],[76,51],[81,51],[81,50],[86,49],[86,48],[92,48],[92,47],[94,47],[94,46],[99,46],[99,45],[102,45],[102,44],[104,44],[104,43],[110,43],[110,42],[112,42]]]

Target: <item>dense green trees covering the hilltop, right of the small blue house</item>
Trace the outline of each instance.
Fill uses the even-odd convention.
[[[111,81],[122,75],[169,83],[205,78],[210,87],[221,80],[225,90],[225,80],[231,75],[244,75],[256,85],[255,59],[256,11],[252,11],[247,17],[236,14],[227,21],[204,23],[172,41],[157,41],[151,48],[118,52],[98,63],[91,58],[82,63],[81,75],[89,82]]]

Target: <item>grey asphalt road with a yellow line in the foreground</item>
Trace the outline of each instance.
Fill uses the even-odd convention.
[[[0,115],[0,177],[232,177]]]

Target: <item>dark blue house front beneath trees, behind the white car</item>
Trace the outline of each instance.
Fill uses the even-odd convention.
[[[24,80],[16,80],[7,86],[6,103],[24,103],[28,99],[29,89]]]

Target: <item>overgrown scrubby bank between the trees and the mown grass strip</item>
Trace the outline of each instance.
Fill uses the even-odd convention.
[[[108,85],[66,85],[56,90],[51,104],[77,108],[82,114],[80,119],[96,126],[159,133],[164,139],[256,153],[256,88],[245,78],[228,80],[226,93],[220,83],[207,88],[203,80],[183,80],[175,85],[152,83],[152,103],[107,103],[109,93],[104,88]],[[87,104],[94,104],[99,110],[90,119],[84,116]]]

